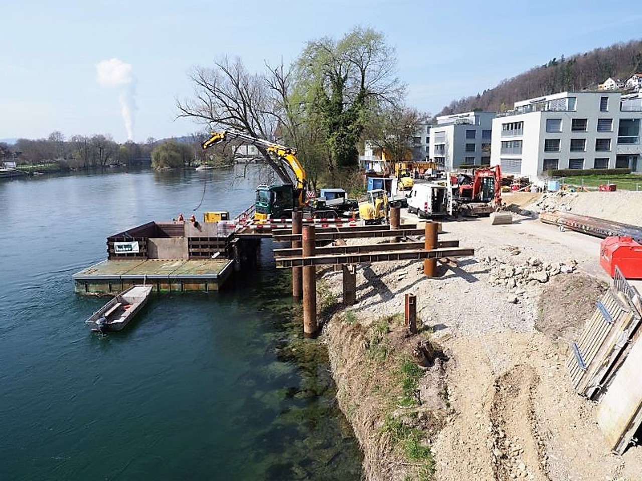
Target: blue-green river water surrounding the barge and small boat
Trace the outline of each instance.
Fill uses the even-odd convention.
[[[221,292],[155,294],[107,337],[84,324],[105,299],[75,294],[72,275],[107,257],[108,235],[241,212],[253,169],[0,181],[0,480],[361,478],[269,242]]]

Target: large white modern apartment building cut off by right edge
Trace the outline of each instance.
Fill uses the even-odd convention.
[[[535,181],[557,169],[642,172],[642,98],[620,92],[562,92],[515,103],[492,121],[490,164]]]

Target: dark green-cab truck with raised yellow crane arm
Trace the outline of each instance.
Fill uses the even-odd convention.
[[[309,217],[340,217],[351,210],[351,203],[346,199],[345,203],[334,203],[332,207],[319,205],[316,207],[308,201],[308,180],[306,171],[297,159],[296,149],[285,147],[270,140],[259,139],[252,135],[237,130],[223,130],[213,132],[209,139],[201,144],[207,149],[225,140],[241,140],[246,144],[264,148],[284,162],[293,173],[296,183],[284,183],[283,185],[259,185],[256,188],[256,201],[254,203],[254,219],[278,219],[291,218],[292,211],[300,209],[304,216]]]

